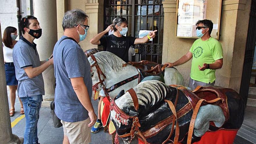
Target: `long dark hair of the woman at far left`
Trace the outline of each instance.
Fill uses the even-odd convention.
[[[6,47],[9,48],[13,48],[13,41],[12,41],[12,37],[11,37],[11,33],[15,33],[15,31],[17,31],[17,29],[15,27],[12,26],[8,26],[4,32],[3,32],[3,43]]]

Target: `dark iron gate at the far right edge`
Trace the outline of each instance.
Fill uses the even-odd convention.
[[[251,11],[250,11],[250,19],[248,25],[248,34],[246,41],[246,50],[244,55],[243,62],[243,74],[240,85],[240,95],[243,97],[244,102],[246,104],[249,85],[250,85],[250,77],[253,66],[253,56],[254,56],[254,48],[256,41],[256,0],[252,0],[251,3]]]

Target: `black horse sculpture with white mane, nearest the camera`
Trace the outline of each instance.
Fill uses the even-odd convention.
[[[151,80],[122,90],[111,102],[110,119],[125,144],[134,136],[149,144],[190,144],[207,131],[234,130],[235,136],[244,108],[232,89],[211,86],[192,93]]]

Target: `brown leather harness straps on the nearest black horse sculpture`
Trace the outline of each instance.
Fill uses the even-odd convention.
[[[185,89],[183,86],[179,86],[179,85],[172,85],[172,86],[178,86],[180,90],[187,90]],[[201,88],[200,87],[197,87],[195,91],[199,90]],[[194,130],[194,125],[195,125],[195,119],[196,119],[196,116],[197,116],[197,113],[198,113],[198,110],[202,104],[202,102],[207,102],[208,104],[210,103],[215,103],[219,100],[221,100],[223,102],[223,99],[221,98],[216,98],[216,99],[213,99],[213,100],[210,100],[210,101],[207,101],[205,99],[200,99],[198,100],[198,102],[196,103],[195,107],[193,107],[193,105],[191,103],[188,103],[186,104],[180,111],[178,111],[176,113],[176,104],[177,104],[177,99],[179,97],[179,90],[176,88],[177,90],[177,95],[176,95],[176,99],[175,99],[175,103],[173,104],[170,100],[164,100],[165,102],[167,102],[167,104],[169,105],[173,115],[172,115],[172,128],[171,128],[171,131],[170,131],[170,134],[168,136],[168,138],[162,143],[162,144],[165,144],[166,142],[168,141],[171,141],[171,143],[173,144],[177,144],[179,142],[179,123],[178,123],[178,118],[177,117],[177,113],[182,114],[180,111],[182,111],[182,109],[191,109],[193,108],[193,114],[192,114],[192,117],[191,117],[191,121],[190,121],[190,125],[189,125],[189,132],[188,132],[188,140],[187,140],[187,144],[191,144],[191,141],[192,141],[192,134],[193,134],[193,130]],[[128,92],[130,93],[131,95],[131,98],[133,100],[133,104],[134,104],[134,108],[136,109],[136,111],[138,111],[138,97],[134,91],[133,88],[129,89]],[[118,135],[119,137],[121,138],[124,138],[124,137],[128,137],[128,136],[131,136],[131,140],[136,136],[138,136],[138,138],[142,139],[144,141],[145,144],[147,144],[147,140],[146,140],[146,137],[149,138],[151,136],[146,136],[146,132],[141,132],[139,130],[139,127],[141,127],[141,124],[139,122],[139,119],[138,119],[138,116],[129,116],[127,115],[126,113],[124,113],[116,104],[115,104],[115,99],[116,97],[111,101],[111,104],[110,104],[110,109],[111,110],[114,110],[116,112],[116,115],[115,115],[115,118],[117,120],[119,120],[119,122],[121,122],[123,125],[128,125],[127,124],[127,121],[128,119],[133,119],[132,120],[132,126],[131,126],[131,131],[130,133],[128,134],[123,134],[123,135]],[[170,119],[170,117],[166,118],[166,119]],[[176,128],[175,128],[175,137],[174,137],[174,141],[170,140],[170,137],[172,136],[173,134],[173,131],[174,131],[174,125],[175,125],[175,120],[176,120]],[[168,124],[168,123],[167,123]],[[163,125],[166,126],[166,120],[163,120],[160,122],[160,124],[157,124],[157,125]],[[131,142],[131,140],[129,142]]]

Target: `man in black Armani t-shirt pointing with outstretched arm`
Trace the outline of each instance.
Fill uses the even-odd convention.
[[[104,51],[112,52],[123,61],[128,62],[129,47],[131,45],[147,43],[151,38],[155,37],[157,30],[148,33],[143,38],[124,36],[128,31],[127,24],[127,20],[124,17],[116,17],[105,31],[95,35],[90,42],[94,45],[103,45]],[[114,30],[114,33],[112,35],[105,35],[110,30]]]

